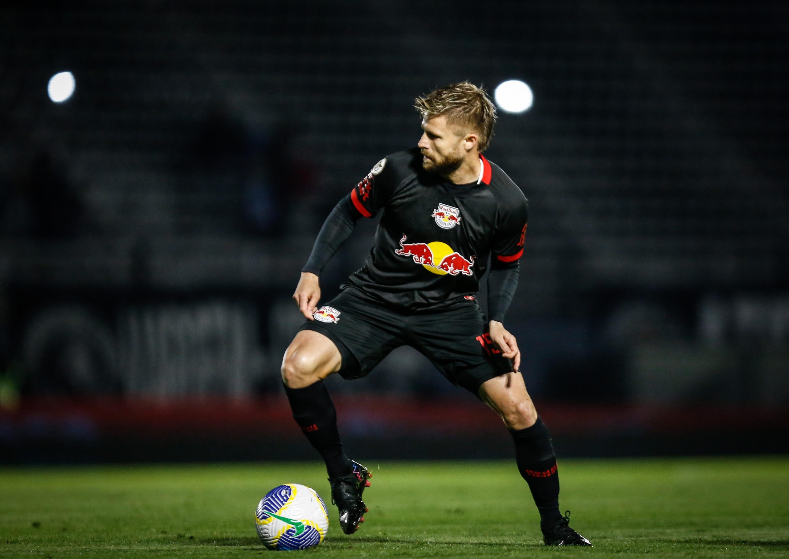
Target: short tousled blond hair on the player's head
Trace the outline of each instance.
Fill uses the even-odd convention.
[[[480,152],[488,149],[496,114],[495,106],[483,88],[477,88],[470,81],[449,84],[424,97],[417,97],[413,106],[423,118],[445,115],[450,124],[468,126],[479,135],[477,149]]]

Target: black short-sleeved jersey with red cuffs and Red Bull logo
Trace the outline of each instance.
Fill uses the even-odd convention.
[[[479,180],[470,184],[425,171],[418,148],[376,163],[350,194],[367,218],[383,210],[376,242],[341,288],[413,311],[440,309],[477,294],[488,255],[493,266],[517,263],[529,203],[499,166],[480,158]]]

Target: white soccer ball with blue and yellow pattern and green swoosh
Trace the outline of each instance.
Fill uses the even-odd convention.
[[[305,550],[323,542],[329,529],[326,504],[315,490],[286,483],[260,499],[257,535],[270,550]]]

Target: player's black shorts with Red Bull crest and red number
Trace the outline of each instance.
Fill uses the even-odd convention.
[[[492,345],[476,300],[440,311],[401,311],[349,287],[318,309],[300,330],[320,332],[342,355],[342,378],[361,378],[394,348],[410,345],[455,386],[479,397],[483,382],[512,371]]]

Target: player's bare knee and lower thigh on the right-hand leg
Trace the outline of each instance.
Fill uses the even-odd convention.
[[[537,421],[537,409],[519,372],[489,378],[480,386],[479,397],[510,429],[525,429]]]

